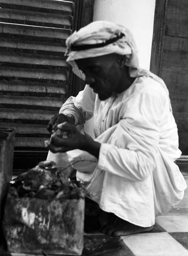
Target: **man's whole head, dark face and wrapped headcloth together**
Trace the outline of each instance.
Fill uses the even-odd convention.
[[[91,22],[73,32],[67,38],[66,46],[65,55],[73,72],[98,92],[102,100],[113,92],[123,92],[137,77],[159,79],[139,68],[135,40],[129,29],[122,25],[102,20]],[[91,62],[93,70],[89,67]]]

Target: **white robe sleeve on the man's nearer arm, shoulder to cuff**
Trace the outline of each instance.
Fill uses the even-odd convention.
[[[125,106],[123,118],[107,143],[102,143],[97,167],[128,180],[146,179],[156,166],[164,97],[138,94]]]

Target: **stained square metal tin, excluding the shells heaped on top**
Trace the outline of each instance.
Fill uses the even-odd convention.
[[[81,255],[84,199],[14,198],[4,212],[8,251],[28,254]]]

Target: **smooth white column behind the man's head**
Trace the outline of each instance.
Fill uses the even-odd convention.
[[[93,21],[107,20],[129,28],[142,68],[150,67],[155,0],[95,0]]]

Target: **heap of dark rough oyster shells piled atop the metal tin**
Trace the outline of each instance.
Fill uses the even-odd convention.
[[[9,193],[15,197],[41,199],[78,199],[84,197],[84,191],[75,180],[57,168],[55,162],[43,161],[34,168],[20,174],[10,182]]]

